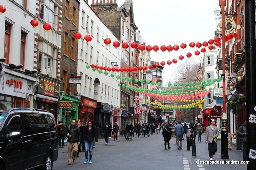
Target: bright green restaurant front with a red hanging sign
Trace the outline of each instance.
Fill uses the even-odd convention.
[[[72,119],[78,119],[78,106],[80,98],[63,95],[59,101],[60,118],[65,125],[70,125]]]

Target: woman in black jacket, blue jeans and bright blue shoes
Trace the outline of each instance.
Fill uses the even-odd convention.
[[[91,120],[88,121],[87,126],[83,130],[83,137],[84,137],[84,145],[85,145],[85,160],[84,163],[87,164],[88,162],[88,151],[89,151],[89,164],[92,163],[92,148],[95,143],[98,144],[98,130],[97,127],[93,125]]]

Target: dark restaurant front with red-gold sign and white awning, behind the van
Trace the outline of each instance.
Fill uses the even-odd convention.
[[[59,121],[58,99],[60,97],[60,81],[53,78],[40,78],[36,91],[35,108],[51,112],[56,123]]]

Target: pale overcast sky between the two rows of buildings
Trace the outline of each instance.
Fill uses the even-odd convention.
[[[120,7],[125,0],[116,0]],[[89,1],[90,3],[90,1]],[[175,68],[183,60],[189,60],[186,57],[188,52],[199,63],[199,58],[194,53],[197,48],[190,48],[189,43],[203,42],[212,39],[216,30],[216,15],[213,13],[219,8],[219,0],[133,0],[133,14],[135,25],[140,30],[142,38],[147,45],[174,46],[185,43],[187,48],[183,51],[181,48],[170,53],[159,49],[157,53],[151,51],[151,60],[161,62],[176,58],[178,62],[170,66],[165,64],[163,70],[163,86],[172,79]],[[184,56],[179,60],[180,55]]]

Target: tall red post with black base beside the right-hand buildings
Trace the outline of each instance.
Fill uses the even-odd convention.
[[[222,25],[222,87],[223,87],[223,113],[222,113],[222,126],[221,126],[221,159],[228,159],[228,122],[226,113],[226,67],[225,67],[225,6],[226,0],[220,0],[221,6],[221,25]]]

